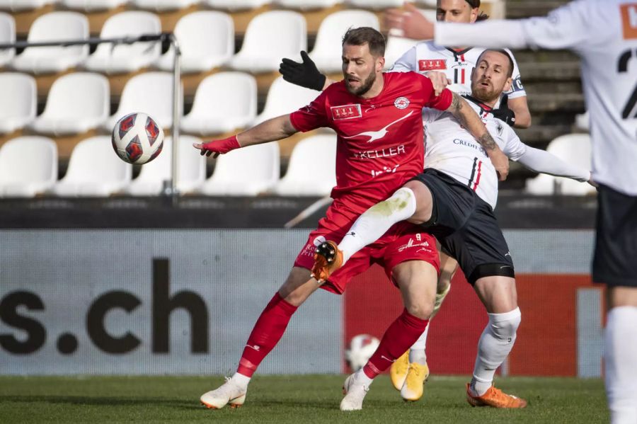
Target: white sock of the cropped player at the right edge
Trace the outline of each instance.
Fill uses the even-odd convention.
[[[604,340],[606,394],[612,424],[637,423],[637,306],[615,306]]]

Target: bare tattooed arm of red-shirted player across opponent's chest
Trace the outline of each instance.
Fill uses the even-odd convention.
[[[495,171],[498,172],[500,181],[505,181],[509,174],[509,159],[498,147],[498,144],[495,143],[476,111],[459,94],[453,93],[452,104],[447,108],[447,112],[454,115],[460,125],[465,127],[478,140],[478,143],[489,155],[491,164],[493,164]]]

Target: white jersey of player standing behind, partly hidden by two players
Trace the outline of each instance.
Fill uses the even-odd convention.
[[[435,45],[432,41],[422,41],[407,50],[389,71],[407,72],[415,71],[425,74],[428,71],[444,72],[447,78],[452,81],[448,86],[450,90],[459,93],[461,96],[471,94],[471,71],[476,67],[478,57],[484,51],[481,47],[470,47],[457,51],[448,47]],[[520,69],[512,53],[507,50],[513,59],[513,83],[511,89],[506,94],[509,98],[526,96],[522,81],[520,79]]]

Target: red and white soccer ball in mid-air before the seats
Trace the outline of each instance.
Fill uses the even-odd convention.
[[[146,164],[161,153],[163,130],[149,115],[129,113],[115,124],[111,141],[122,161]]]

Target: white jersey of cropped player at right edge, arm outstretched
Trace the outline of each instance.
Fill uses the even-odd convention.
[[[436,23],[440,44],[571,49],[581,59],[593,179],[637,195],[637,1],[575,0],[545,18]]]

